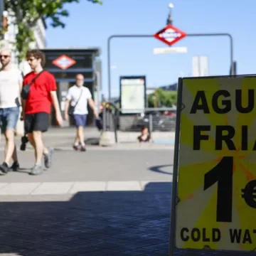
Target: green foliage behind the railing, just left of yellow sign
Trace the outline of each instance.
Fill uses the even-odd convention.
[[[148,96],[149,107],[173,107],[177,103],[176,91],[165,91],[157,89],[154,93]]]

